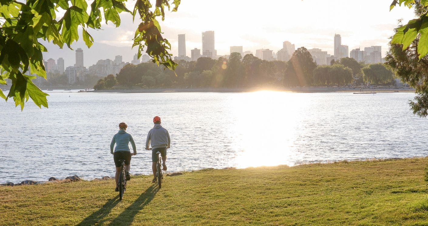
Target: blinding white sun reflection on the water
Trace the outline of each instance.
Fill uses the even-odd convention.
[[[294,165],[289,161],[296,140],[299,100],[293,93],[259,91],[236,99],[233,146],[239,168]],[[293,107],[290,107],[293,106]]]

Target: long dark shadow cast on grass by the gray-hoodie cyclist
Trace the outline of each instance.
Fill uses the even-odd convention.
[[[109,225],[131,225],[135,215],[140,212],[153,198],[155,198],[158,188],[153,184],[145,190],[128,208],[117,216]]]

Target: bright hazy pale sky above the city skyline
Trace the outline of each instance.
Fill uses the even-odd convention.
[[[384,55],[397,20],[402,18],[407,23],[414,17],[413,10],[404,6],[389,12],[391,2],[182,0],[178,12],[168,12],[161,26],[174,55],[177,54],[178,34],[186,34],[187,55],[190,56],[190,49],[202,48],[201,33],[207,30],[215,32],[218,55],[229,54],[229,47],[233,45],[242,45],[244,51],[269,48],[276,52],[284,41],[290,41],[296,48],[321,48],[333,55],[335,33],[342,36],[342,45],[348,45],[349,51],[381,45]],[[134,1],[130,1],[128,9],[132,9],[133,4]],[[132,24],[131,16],[123,13],[121,18],[119,28],[104,24],[104,30],[90,31],[95,42],[130,46],[139,22]]]

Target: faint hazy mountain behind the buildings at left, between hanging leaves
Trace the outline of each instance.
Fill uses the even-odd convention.
[[[84,42],[77,42],[76,44],[71,45],[73,50],[70,50],[66,45],[64,45],[63,49],[60,49],[52,43],[42,42],[42,44],[48,48],[48,52],[43,53],[43,59],[47,61],[49,58],[52,58],[55,59],[56,62],[59,57],[62,57],[64,59],[65,68],[73,66],[76,63],[75,50],[77,48],[83,49],[83,64],[86,68],[95,64],[99,59],[114,60],[117,55],[122,56],[122,61],[131,62],[131,60],[134,59],[134,54],[138,51],[138,47],[131,49],[131,46],[119,47],[98,42],[95,42],[89,49],[86,47]]]

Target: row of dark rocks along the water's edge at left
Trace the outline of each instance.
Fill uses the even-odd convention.
[[[173,172],[171,174],[166,174],[166,176],[177,176],[182,175],[182,172]],[[135,176],[141,176],[144,174],[136,173]],[[132,176],[132,175],[131,175]],[[95,178],[93,181],[105,181],[105,180],[114,180],[114,177],[110,176],[103,176],[102,178]],[[78,175],[68,176],[64,179],[57,179],[55,177],[51,177],[48,179],[48,181],[33,181],[33,180],[25,180],[21,183],[15,184],[13,182],[6,182],[3,184],[0,184],[0,186],[21,186],[21,185],[37,185],[37,184],[59,184],[59,183],[68,183],[68,182],[75,182],[75,181],[83,181],[82,178],[80,178]]]

